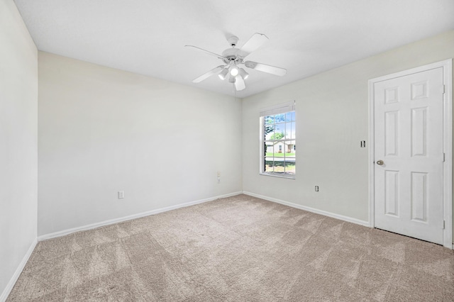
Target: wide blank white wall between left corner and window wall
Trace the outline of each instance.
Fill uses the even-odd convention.
[[[239,99],[46,52],[38,62],[38,235],[241,191]]]

